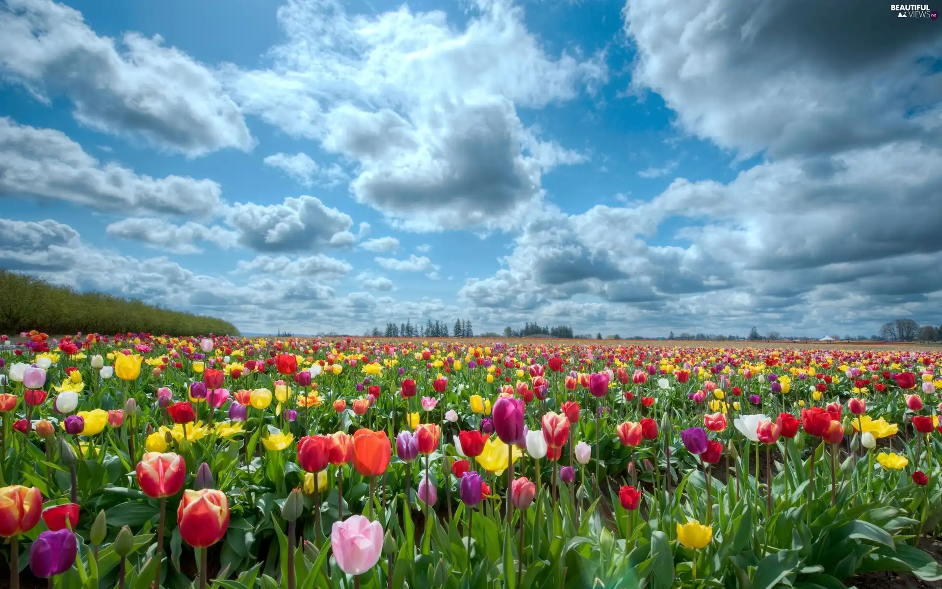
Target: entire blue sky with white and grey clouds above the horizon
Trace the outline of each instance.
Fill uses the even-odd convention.
[[[0,203],[0,267],[243,332],[938,325],[942,21],[0,0]]]

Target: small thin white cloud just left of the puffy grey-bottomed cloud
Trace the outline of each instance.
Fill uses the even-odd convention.
[[[196,245],[199,241],[208,241],[222,249],[235,244],[237,235],[219,225],[206,225],[187,221],[183,225],[174,225],[163,219],[132,218],[110,223],[105,228],[111,237],[133,239],[157,250],[173,254],[200,254],[203,249]]]

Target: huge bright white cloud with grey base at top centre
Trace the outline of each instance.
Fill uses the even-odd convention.
[[[268,70],[226,71],[248,111],[357,166],[350,189],[399,226],[510,229],[543,198],[545,170],[584,160],[539,139],[540,108],[607,79],[604,55],[550,56],[509,0],[463,29],[442,11],[351,15],[333,0],[279,9],[287,41]]]

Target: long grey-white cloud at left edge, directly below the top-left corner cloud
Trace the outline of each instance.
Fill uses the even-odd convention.
[[[0,195],[61,200],[118,214],[211,217],[222,205],[212,180],[135,173],[102,163],[55,129],[0,117]]]

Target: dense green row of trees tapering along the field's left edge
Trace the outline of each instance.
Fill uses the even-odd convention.
[[[50,335],[238,335],[235,325],[222,319],[171,311],[101,292],[77,292],[0,269],[0,333],[18,334],[32,329]]]

